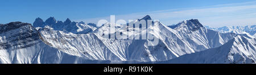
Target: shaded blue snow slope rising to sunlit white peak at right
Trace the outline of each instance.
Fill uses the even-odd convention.
[[[256,39],[237,36],[224,45],[158,63],[255,63]]]

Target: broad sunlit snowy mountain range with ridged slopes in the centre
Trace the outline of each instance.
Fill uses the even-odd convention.
[[[139,20],[151,20],[150,16],[145,16],[142,19],[133,21],[136,24]],[[189,20],[188,20],[189,21]],[[152,22],[154,23],[154,21]],[[190,24],[198,24],[199,21],[192,21]],[[112,27],[111,23],[106,23],[102,27],[94,30],[93,33],[88,34],[73,34],[63,33],[60,30],[54,30],[51,27],[39,29],[43,39],[52,45],[52,47],[76,56],[82,56],[92,60],[113,60],[113,61],[165,61],[177,58],[184,54],[191,54],[193,52],[203,51],[208,48],[214,48],[223,45],[232,39],[236,34],[234,33],[218,33],[213,30],[207,30],[203,27],[198,30],[189,30],[184,26],[187,23],[179,23],[177,27],[180,29],[187,29],[179,31],[168,28],[166,25],[159,23],[148,27],[152,31],[148,34],[154,35],[159,39],[156,46],[148,46],[150,42],[148,39],[106,39],[102,37],[106,30]],[[181,25],[183,27],[181,27]],[[191,27],[192,25],[188,25]],[[114,33],[122,33],[125,36],[133,37],[130,33],[134,33],[135,37],[146,35],[146,27],[129,27],[127,25],[115,25],[117,28]],[[129,30],[124,30],[127,28]],[[139,30],[141,28],[141,30]],[[159,31],[160,33],[156,33]],[[198,38],[201,37],[201,38]],[[57,39],[56,39],[57,38]],[[142,38],[142,37],[141,37]]]

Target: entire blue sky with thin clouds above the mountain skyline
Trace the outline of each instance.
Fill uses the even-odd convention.
[[[204,25],[256,24],[256,2],[252,0],[1,0],[0,23],[33,23],[36,17],[46,20],[67,18],[85,23],[100,19],[138,19],[145,15],[165,25],[199,19]]]

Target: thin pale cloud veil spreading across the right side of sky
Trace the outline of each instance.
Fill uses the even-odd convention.
[[[221,27],[223,25],[247,25],[256,24],[256,2],[231,3],[226,5],[215,5],[197,8],[181,8],[171,10],[160,10],[151,12],[140,12],[126,15],[115,15],[118,19],[138,19],[150,15],[153,19],[162,21],[163,24],[172,25],[182,20],[199,19],[204,25]],[[97,23],[98,20],[109,20],[110,16],[96,17],[91,19],[80,19]],[[110,20],[109,20],[110,21]]]

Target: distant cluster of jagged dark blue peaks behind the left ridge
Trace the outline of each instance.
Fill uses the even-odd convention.
[[[46,21],[43,21],[39,17],[35,19],[33,23],[34,27],[44,28],[49,26],[55,30],[64,30],[67,32],[72,32],[75,34],[85,34],[88,32],[93,32],[97,27],[92,23],[84,23],[83,21],[77,23],[71,21],[70,19],[63,21],[56,21],[54,17],[49,17]]]

